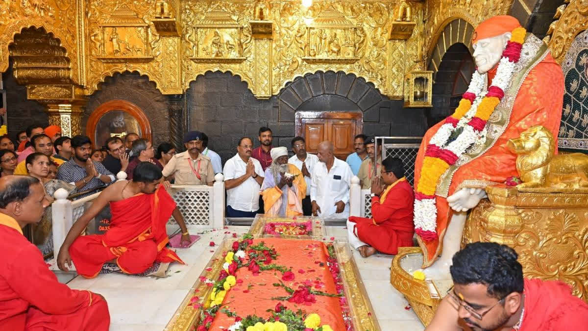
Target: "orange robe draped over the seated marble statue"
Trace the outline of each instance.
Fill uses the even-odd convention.
[[[496,69],[497,67],[488,73],[489,83],[496,75]],[[533,125],[543,125],[553,134],[553,137],[557,137],[562,118],[563,88],[562,68],[551,54],[547,54],[543,61],[531,69],[521,85],[505,132],[497,138],[496,143],[486,153],[461,166],[455,172],[448,196],[455,193],[460,184],[466,180],[478,181],[476,184],[470,183],[468,187],[484,188],[489,184],[504,183],[510,176],[519,176],[515,167],[517,155],[507,150],[506,143],[511,138],[519,137],[524,130]],[[426,146],[442,124],[443,121],[434,125],[423,137],[415,163],[415,187],[419,183]],[[555,145],[557,146],[557,141]],[[438,239],[421,244],[425,253],[423,267],[430,266],[435,262],[436,256],[441,253],[443,236],[452,216],[452,209],[447,204],[446,198],[436,196],[436,205]]]

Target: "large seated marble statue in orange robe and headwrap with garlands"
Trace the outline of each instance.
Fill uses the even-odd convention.
[[[430,128],[415,164],[415,231],[427,276],[448,277],[466,211],[484,188],[517,176],[506,143],[533,125],[557,137],[562,69],[516,18],[495,16],[473,34],[477,71],[455,113]],[[427,270],[429,272],[427,273]]]

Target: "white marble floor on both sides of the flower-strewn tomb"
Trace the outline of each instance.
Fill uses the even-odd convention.
[[[111,330],[161,331],[214,253],[215,247],[210,247],[209,243],[219,242],[233,232],[242,234],[247,230],[246,226],[230,226],[228,229],[205,231],[192,247],[177,250],[186,265],[172,263],[168,269],[170,276],[166,278],[111,273],[85,279],[72,273],[56,273],[59,280],[72,289],[91,290],[106,298],[111,314]],[[329,237],[344,238],[347,230],[331,226],[327,227],[326,232]],[[196,231],[192,230],[191,233],[196,234]],[[384,331],[423,330],[406,299],[389,282],[392,257],[372,256],[363,259],[357,251],[354,254],[380,328]]]

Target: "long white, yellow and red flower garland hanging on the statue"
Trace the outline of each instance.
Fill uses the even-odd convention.
[[[484,90],[487,74],[475,71],[459,106],[445,119],[426,147],[415,193],[415,232],[425,241],[437,239],[435,193],[439,178],[477,141],[485,140],[486,123],[512,81],[527,31],[516,28],[502,53],[496,77]],[[463,130],[455,140],[450,137]]]

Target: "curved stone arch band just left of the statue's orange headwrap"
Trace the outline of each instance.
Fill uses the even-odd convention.
[[[428,68],[433,71],[433,80],[435,80],[436,73],[439,71],[443,55],[453,44],[460,42],[469,48],[470,54],[473,54],[473,25],[463,18],[448,19],[447,22],[440,32],[439,38],[437,38],[437,43],[432,44],[428,52]]]

